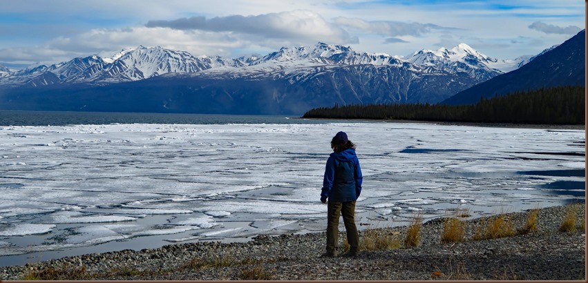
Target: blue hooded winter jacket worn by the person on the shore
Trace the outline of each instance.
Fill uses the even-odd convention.
[[[325,168],[321,202],[354,202],[361,193],[361,168],[355,150],[331,153]]]

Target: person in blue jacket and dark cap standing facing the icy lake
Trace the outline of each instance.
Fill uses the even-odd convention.
[[[355,154],[355,144],[345,132],[336,133],[331,140],[333,153],[330,154],[325,168],[321,202],[327,204],[327,252],[326,257],[336,256],[339,236],[339,216],[347,232],[350,251],[347,256],[359,255],[359,234],[355,225],[355,202],[361,193],[361,168]],[[328,202],[327,202],[328,199]]]

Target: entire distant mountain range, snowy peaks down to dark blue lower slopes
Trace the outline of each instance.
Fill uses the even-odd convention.
[[[1,68],[0,109],[301,115],[335,104],[439,103],[531,59],[494,59],[464,43],[391,56],[319,42],[236,59],[139,46]]]

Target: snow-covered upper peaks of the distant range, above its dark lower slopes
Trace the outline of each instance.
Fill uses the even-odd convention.
[[[352,48],[317,43],[311,47],[281,48],[268,55],[237,59],[195,57],[189,52],[161,47],[128,48],[113,57],[92,55],[67,62],[29,67],[11,72],[0,66],[0,84],[13,86],[46,86],[52,84],[112,84],[138,81],[164,74],[189,74],[208,70],[210,74],[233,76],[263,75],[273,72],[304,72],[304,68],[341,66],[396,66],[411,64],[421,72],[467,72],[475,79],[490,79],[518,68],[524,57],[499,60],[477,52],[465,43],[448,50],[420,50],[407,57],[356,52]]]

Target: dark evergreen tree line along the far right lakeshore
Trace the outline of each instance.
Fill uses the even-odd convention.
[[[303,118],[585,124],[585,111],[585,86],[558,86],[482,97],[474,105],[335,105],[308,110]]]

